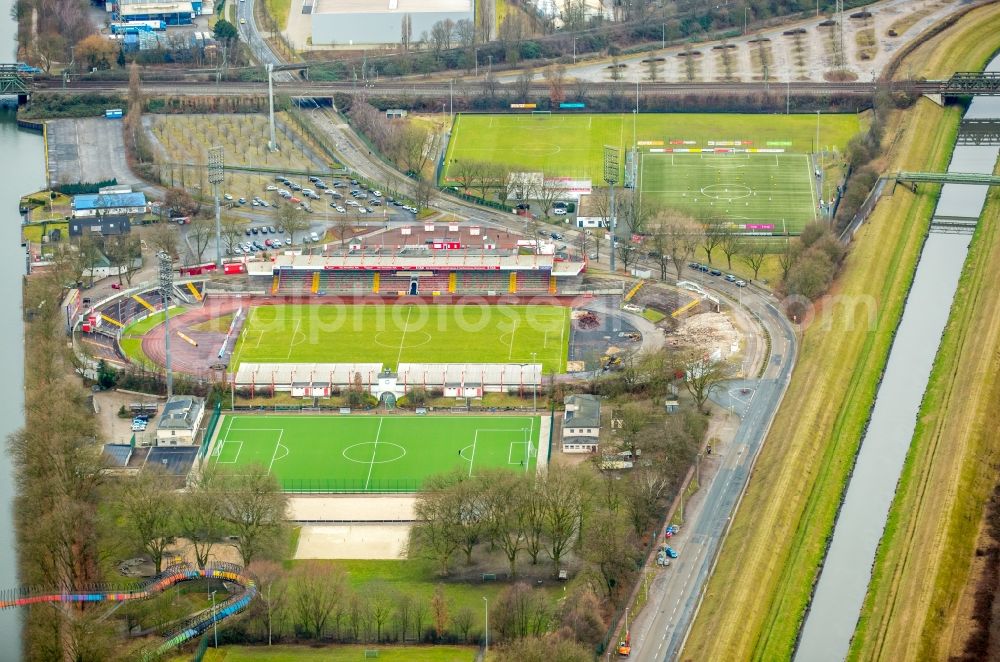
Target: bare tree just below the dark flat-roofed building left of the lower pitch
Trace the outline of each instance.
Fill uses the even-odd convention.
[[[119,501],[132,540],[149,554],[156,572],[177,538],[177,494],[162,472],[147,469],[124,483]]]

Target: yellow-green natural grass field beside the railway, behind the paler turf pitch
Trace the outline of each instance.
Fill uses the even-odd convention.
[[[454,182],[455,161],[490,161],[547,176],[589,177],[603,180],[604,146],[625,150],[633,143],[631,114],[622,115],[459,115],[455,119],[442,177]],[[860,128],[854,114],[821,115],[819,144],[843,151]],[[790,143],[792,154],[815,151],[816,115],[640,114],[635,118],[635,139],[694,141],[752,141]],[[648,148],[647,148],[648,149]],[[621,157],[624,164],[624,152]]]

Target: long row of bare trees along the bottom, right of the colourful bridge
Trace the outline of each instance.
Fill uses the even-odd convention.
[[[249,617],[233,625],[231,640],[466,644],[484,639],[483,612],[457,606],[442,584],[430,596],[380,579],[352,586],[341,567],[317,561],[296,563],[291,571],[274,562],[251,569],[259,599]],[[558,630],[592,650],[606,627],[600,600],[583,584],[558,605],[526,583],[510,584],[490,600],[489,613],[490,642],[498,644]]]

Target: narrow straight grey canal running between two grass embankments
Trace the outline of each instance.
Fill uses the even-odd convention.
[[[987,67],[998,70],[1000,57]],[[966,117],[1000,118],[1000,99],[975,99]],[[948,169],[990,174],[997,154],[996,146],[959,145]],[[986,193],[985,186],[945,184],[935,217],[978,218]],[[932,224],[802,628],[799,662],[847,656],[970,240]]]

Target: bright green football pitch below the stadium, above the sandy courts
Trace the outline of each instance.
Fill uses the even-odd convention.
[[[258,464],[288,492],[413,492],[448,471],[533,471],[541,424],[538,416],[230,415],[211,460],[233,473]]]

